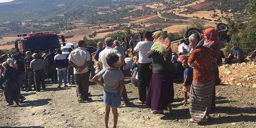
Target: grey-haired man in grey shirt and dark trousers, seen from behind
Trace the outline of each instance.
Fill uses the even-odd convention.
[[[46,85],[44,81],[44,76],[46,72],[46,66],[43,63],[43,60],[38,58],[38,54],[34,53],[32,56],[34,59],[30,62],[30,69],[34,71],[36,90],[39,92],[41,90],[40,85],[42,84],[42,88],[45,91]]]

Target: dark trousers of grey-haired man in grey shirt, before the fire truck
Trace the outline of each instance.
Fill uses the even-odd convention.
[[[45,77],[45,73],[43,70],[37,70],[34,72],[34,76],[35,76],[35,87],[37,89],[37,91],[41,90],[41,85],[43,89],[46,89],[46,84],[44,81],[44,77]]]

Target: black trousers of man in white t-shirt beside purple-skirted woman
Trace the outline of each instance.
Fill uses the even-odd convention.
[[[150,69],[151,63],[139,63],[138,65],[138,81],[139,81],[139,100],[146,101],[146,95],[150,81],[152,78],[152,69]]]

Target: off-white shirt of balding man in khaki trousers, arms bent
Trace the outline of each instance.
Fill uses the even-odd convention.
[[[76,66],[82,67],[85,65],[86,61],[91,61],[91,55],[90,53],[86,50],[86,48],[76,48],[76,50],[73,50],[69,56],[68,60],[72,61]],[[89,70],[86,67],[85,69],[82,70],[82,72],[77,72],[76,69],[74,68],[74,74],[84,74],[87,73]]]

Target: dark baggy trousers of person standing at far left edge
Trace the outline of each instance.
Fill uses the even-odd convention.
[[[4,97],[6,102],[13,104],[13,101],[16,104],[19,104],[20,100],[20,83],[19,81],[5,81],[4,82]]]

